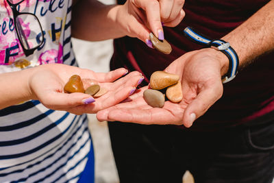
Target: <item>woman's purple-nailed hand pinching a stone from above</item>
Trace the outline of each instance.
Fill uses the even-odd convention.
[[[116,21],[124,34],[137,37],[151,46],[149,33],[152,31],[163,40],[162,24],[167,27],[178,25],[185,15],[183,5],[184,0],[127,0],[119,6]]]

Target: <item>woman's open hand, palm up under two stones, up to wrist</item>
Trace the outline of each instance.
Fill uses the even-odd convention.
[[[95,73],[64,64],[45,64],[32,70],[33,74],[29,80],[31,98],[38,99],[47,108],[66,110],[74,114],[95,113],[113,106],[133,93],[142,80],[142,76],[136,71],[122,77],[127,72],[123,68],[109,73]],[[108,93],[95,100],[85,93],[64,93],[64,85],[71,75],[97,80],[101,87],[108,89]],[[85,89],[88,88],[88,83],[83,84]]]

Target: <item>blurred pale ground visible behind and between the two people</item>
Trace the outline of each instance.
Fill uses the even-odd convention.
[[[114,0],[100,0],[114,4]],[[96,72],[108,72],[113,53],[113,40],[88,42],[73,38],[73,49],[80,67]],[[119,183],[106,121],[97,121],[95,114],[88,114],[90,133],[95,149],[95,183]],[[189,173],[184,175],[184,183],[192,183]],[[171,182],[172,183],[172,182]]]

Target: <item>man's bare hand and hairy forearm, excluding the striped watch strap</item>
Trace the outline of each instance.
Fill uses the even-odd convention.
[[[222,39],[238,53],[240,68],[258,56],[274,49],[274,1],[270,1],[245,23]],[[201,64],[203,63],[203,64]],[[263,63],[262,63],[263,64]],[[166,101],[164,108],[151,108],[142,98],[140,88],[125,103],[97,113],[100,121],[123,121],[141,124],[175,124],[190,127],[223,95],[221,76],[228,70],[229,60],[212,48],[190,51],[171,63],[165,71],[181,76],[183,100]]]

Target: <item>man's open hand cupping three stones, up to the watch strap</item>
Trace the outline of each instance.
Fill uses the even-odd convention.
[[[165,71],[180,75],[183,99],[165,101],[163,108],[152,108],[142,97],[148,86],[136,90],[124,103],[99,111],[99,121],[123,121],[141,124],[174,124],[190,127],[223,94],[221,73],[225,73],[225,55],[214,49],[201,49],[184,54]],[[227,61],[228,62],[228,61]]]

